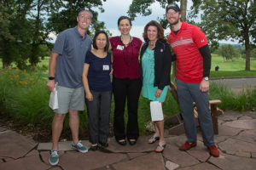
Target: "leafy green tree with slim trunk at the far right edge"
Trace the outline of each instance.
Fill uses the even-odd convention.
[[[201,0],[201,28],[210,42],[230,38],[246,48],[245,70],[250,71],[250,50],[255,46],[256,3],[254,0]]]

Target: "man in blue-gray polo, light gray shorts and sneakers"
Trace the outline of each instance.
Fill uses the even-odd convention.
[[[84,111],[82,73],[85,56],[90,51],[91,38],[86,31],[91,20],[92,13],[81,8],[77,16],[78,25],[58,35],[50,55],[47,87],[53,91],[56,83],[59,105],[59,108],[54,110],[55,117],[52,122],[52,150],[49,163],[53,166],[59,162],[58,141],[67,112],[73,136],[73,149],[82,153],[88,151],[79,141],[79,111]]]

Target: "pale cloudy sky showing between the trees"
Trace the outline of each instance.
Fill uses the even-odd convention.
[[[127,11],[129,9],[129,6],[131,5],[132,0],[107,0],[107,2],[102,2],[102,8],[104,8],[104,12],[101,13],[100,10],[97,8],[93,8],[93,10],[98,11],[98,18],[97,20],[103,21],[105,23],[106,28],[108,31],[112,33],[112,36],[119,36],[120,32],[118,30],[117,21],[120,16],[126,15]],[[177,3],[179,6],[179,3]],[[189,13],[189,9],[192,5],[192,0],[188,0],[187,4],[187,14]],[[139,37],[143,40],[143,29],[144,26],[147,25],[147,23],[150,20],[157,20],[159,18],[163,18],[166,14],[166,9],[160,7],[160,3],[156,2],[153,3],[150,8],[152,9],[152,14],[148,16],[142,16],[140,14],[137,14],[137,17],[135,20],[132,21],[132,28],[131,28],[131,36],[132,37]],[[200,19],[196,19],[200,20]],[[165,34],[170,33],[170,28],[167,28],[165,30]],[[53,41],[55,42],[55,35],[51,34],[50,37],[53,37]],[[237,42],[231,42],[231,41],[220,41],[222,43],[237,43]]]

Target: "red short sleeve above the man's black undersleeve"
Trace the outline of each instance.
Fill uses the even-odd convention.
[[[201,48],[208,44],[205,33],[197,26],[195,26],[193,31],[193,41],[195,42],[197,48]]]

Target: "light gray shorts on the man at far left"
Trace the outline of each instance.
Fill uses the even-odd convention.
[[[84,111],[84,87],[65,88],[57,86],[58,105],[55,113],[66,114],[69,110]]]

